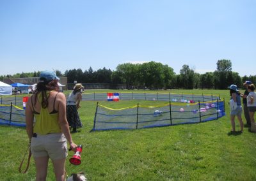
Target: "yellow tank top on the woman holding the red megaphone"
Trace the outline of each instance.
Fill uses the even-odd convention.
[[[50,94],[50,91],[47,91],[47,96],[49,96],[49,94]],[[37,98],[39,103],[41,104],[42,103],[41,92],[38,94]],[[54,99],[54,104],[55,104],[55,99]],[[58,124],[59,114],[58,112],[55,111],[55,109],[54,109],[54,112],[52,113],[49,113],[47,108],[41,108],[40,113],[37,113],[34,110],[34,116],[36,119],[35,126],[33,129],[34,133],[38,133],[38,134],[61,133],[61,129]]]

